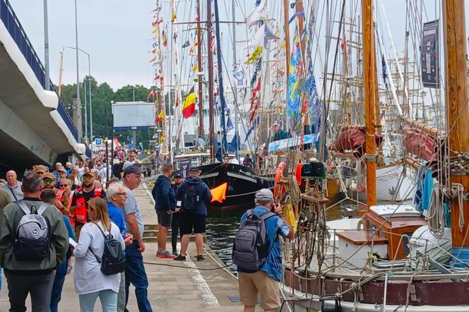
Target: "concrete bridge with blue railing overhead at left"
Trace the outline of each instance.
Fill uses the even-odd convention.
[[[13,8],[0,0],[0,172],[52,165],[85,152],[90,153],[80,144],[54,85],[46,81],[44,66]]]

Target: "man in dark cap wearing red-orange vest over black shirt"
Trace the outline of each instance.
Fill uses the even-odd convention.
[[[70,206],[70,215],[75,217],[75,236],[80,239],[80,231],[88,222],[88,201],[91,198],[106,198],[105,191],[100,186],[95,186],[95,174],[88,172],[83,174],[83,186],[73,193]]]

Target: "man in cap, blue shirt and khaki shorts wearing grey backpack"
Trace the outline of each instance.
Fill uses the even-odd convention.
[[[254,312],[257,294],[264,311],[281,306],[278,283],[282,277],[282,253],[278,236],[291,239],[293,228],[282,217],[282,208],[273,203],[273,193],[262,188],[256,193],[256,207],[244,212],[233,244],[237,265],[239,299],[244,312]]]

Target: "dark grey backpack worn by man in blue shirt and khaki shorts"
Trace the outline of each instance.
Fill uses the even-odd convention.
[[[273,216],[273,212],[258,216],[253,210],[247,211],[247,219],[239,225],[233,243],[233,263],[239,268],[257,271],[266,262],[270,251],[266,220]]]

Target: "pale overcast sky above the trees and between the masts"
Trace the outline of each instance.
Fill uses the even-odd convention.
[[[254,8],[255,0],[235,0],[237,4],[236,20],[244,20],[243,8],[250,12]],[[42,0],[10,0],[13,10],[20,19],[25,32],[37,54],[44,63],[44,26]],[[201,1],[204,4],[206,1]],[[331,1],[334,2],[334,1]],[[391,32],[398,51],[403,47],[403,33],[405,24],[405,0],[377,0],[383,3],[390,23]],[[420,1],[417,0],[420,3]],[[99,83],[106,81],[114,90],[123,85],[153,84],[153,69],[148,63],[150,54],[150,37],[155,1],[151,0],[78,0],[78,47],[90,54],[91,75]],[[231,0],[219,1],[220,20],[231,20],[227,17]],[[279,10],[280,0],[267,0],[271,10]],[[305,4],[308,1],[305,0]],[[427,16],[432,20],[435,16],[434,6],[438,1],[425,0]],[[177,0],[178,20],[186,21],[194,12],[185,11],[194,1]],[[64,54],[63,83],[76,82],[75,51],[67,46],[75,46],[75,16],[73,0],[48,0],[49,6],[49,62],[51,79],[54,83],[59,80],[59,52]],[[169,10],[168,1],[162,1],[162,6]],[[466,4],[467,7],[467,4]],[[228,9],[227,9],[228,8]],[[182,16],[184,11],[184,16]],[[468,10],[465,9],[466,16]],[[203,13],[204,8],[203,8]],[[167,18],[168,19],[168,18]],[[425,20],[424,20],[425,22]],[[227,47],[227,26],[223,25],[222,47]],[[244,27],[244,26],[243,26]],[[239,29],[239,26],[238,26]],[[239,31],[238,40],[245,39],[247,33]],[[182,32],[180,31],[180,34]],[[180,35],[183,36],[182,34]],[[231,36],[231,34],[230,34]],[[242,44],[238,44],[240,46]],[[231,48],[230,48],[231,49]],[[232,64],[232,52],[227,49],[227,63]],[[238,47],[239,50],[242,47]],[[240,52],[239,54],[242,54]],[[238,55],[239,55],[238,54]],[[88,74],[88,59],[79,53],[80,77]],[[238,56],[239,57],[239,56]]]

